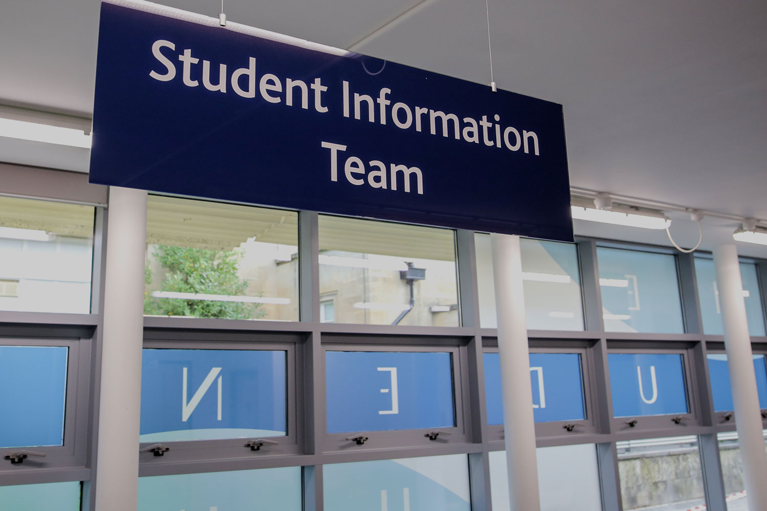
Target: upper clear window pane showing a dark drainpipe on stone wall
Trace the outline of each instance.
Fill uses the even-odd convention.
[[[325,215],[319,231],[335,323],[458,325],[453,231]]]

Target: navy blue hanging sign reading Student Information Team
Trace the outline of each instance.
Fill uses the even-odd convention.
[[[102,2],[91,182],[572,241],[561,105],[152,6]]]

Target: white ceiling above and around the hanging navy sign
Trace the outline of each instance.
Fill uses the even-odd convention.
[[[166,2],[219,12],[217,0]],[[90,115],[99,3],[2,2],[0,103]],[[767,3],[489,0],[489,10],[499,87],[564,105],[571,185],[767,220]],[[355,50],[489,82],[481,0],[225,0],[225,11],[245,25],[337,47],[363,41]],[[703,247],[732,242],[737,224],[704,219]],[[663,231],[575,227],[668,244]],[[683,245],[697,241],[683,217],[672,231]],[[767,247],[739,251],[767,257]]]

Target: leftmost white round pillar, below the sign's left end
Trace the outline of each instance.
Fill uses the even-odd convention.
[[[101,350],[97,511],[136,511],[146,192],[110,187]]]

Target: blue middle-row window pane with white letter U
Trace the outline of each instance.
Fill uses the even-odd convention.
[[[682,355],[611,353],[614,417],[686,414]]]

